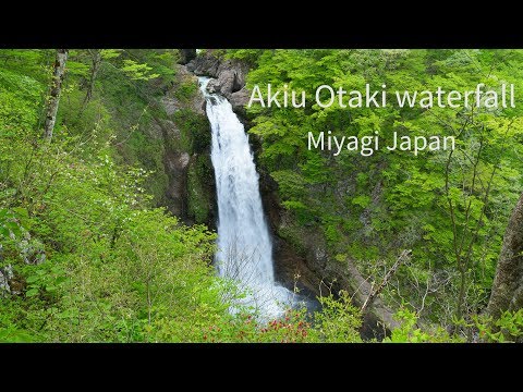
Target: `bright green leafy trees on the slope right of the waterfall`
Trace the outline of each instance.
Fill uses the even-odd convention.
[[[422,319],[451,326],[488,302],[508,217],[523,189],[523,52],[519,50],[238,50],[254,63],[248,86],[311,91],[323,85],[365,90],[500,90],[514,84],[516,108],[250,110],[251,132],[263,140],[260,161],[278,182],[293,223],[280,235],[295,242],[303,226],[323,232],[332,262],[354,259],[379,282],[398,256],[409,266],[385,291],[388,303],[408,303]],[[452,135],[457,149],[380,150],[369,157],[307,149],[307,132],[373,135]]]

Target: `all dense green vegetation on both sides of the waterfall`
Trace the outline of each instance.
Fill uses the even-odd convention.
[[[321,84],[396,89],[523,90],[516,50],[228,50],[252,66],[247,86]],[[0,50],[0,342],[360,342],[361,310],[345,292],[319,298],[311,318],[289,310],[263,322],[231,315],[234,282],[215,275],[216,234],[166,207],[168,118],[159,103],[175,84],[175,50],[72,50],[52,140],[42,138],[54,50]],[[320,233],[330,262],[354,260],[380,282],[399,250],[413,249],[381,296],[401,328],[387,341],[514,340],[523,311],[479,316],[490,294],[510,211],[523,191],[522,102],[506,110],[253,107],[259,164],[279,185],[290,220],[278,235],[300,252]],[[209,215],[202,177],[208,135],[192,110],[174,112],[175,148],[188,169],[188,212]],[[394,130],[454,135],[459,148],[372,157],[307,150],[308,131],[370,135]],[[191,135],[188,137],[187,135]],[[324,293],[325,294],[325,293]],[[492,327],[494,326],[494,327]],[[501,330],[501,331],[500,331]]]

